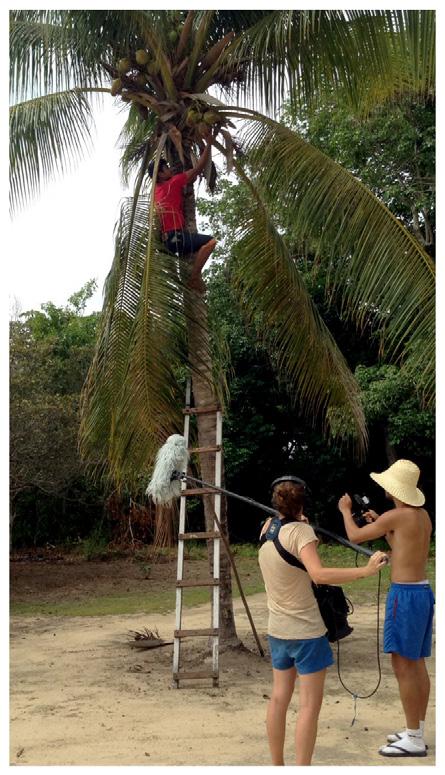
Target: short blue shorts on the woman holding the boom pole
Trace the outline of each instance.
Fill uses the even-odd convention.
[[[300,675],[317,673],[334,664],[332,649],[326,635],[307,640],[286,640],[268,635],[272,667],[289,670],[295,667]]]

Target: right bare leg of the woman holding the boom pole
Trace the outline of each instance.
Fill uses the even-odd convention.
[[[299,676],[300,698],[295,729],[296,763],[299,765],[312,761],[325,678],[326,668]]]

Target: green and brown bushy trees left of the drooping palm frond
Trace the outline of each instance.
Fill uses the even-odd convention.
[[[65,307],[49,302],[10,323],[14,542],[76,537],[102,511],[78,454],[79,395],[98,318],[82,312],[93,290],[88,283]]]

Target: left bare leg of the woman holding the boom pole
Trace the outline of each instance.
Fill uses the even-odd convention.
[[[297,672],[294,667],[289,670],[273,669],[272,672],[272,697],[267,706],[266,716],[267,736],[272,764],[284,766],[286,713],[294,691]]]

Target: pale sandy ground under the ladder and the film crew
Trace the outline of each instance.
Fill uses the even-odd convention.
[[[266,646],[263,594],[249,598]],[[174,615],[13,617],[11,623],[10,763],[14,765],[267,766],[265,713],[270,694],[268,655],[258,654],[241,602],[236,623],[246,651],[220,655],[220,687],[210,682],[172,685],[172,646],[142,651],[128,645],[128,631],[157,628],[172,639]],[[354,633],[342,642],[341,675],[366,695],[378,679],[376,611],[356,608]],[[208,606],[188,609],[183,627],[208,627]],[[266,650],[267,651],[267,650]],[[183,667],[209,663],[197,639],[184,645]],[[357,700],[328,671],[313,764],[433,766],[434,659],[428,660],[432,695],[427,717],[428,756],[388,760],[377,750],[387,732],[403,726],[395,679],[382,655],[376,694]],[[288,713],[286,763],[292,765],[294,698]],[[354,714],[356,718],[351,724]]]

